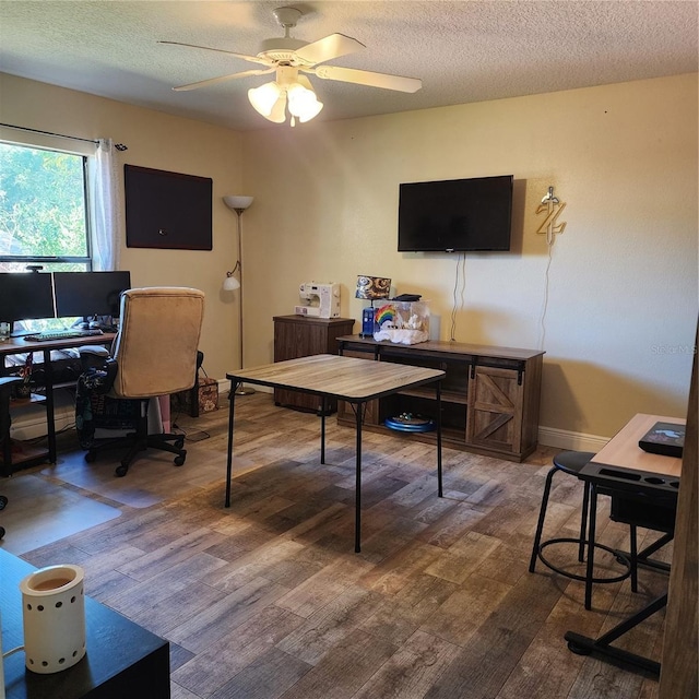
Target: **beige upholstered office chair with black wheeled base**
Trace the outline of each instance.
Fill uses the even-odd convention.
[[[79,381],[95,393],[120,400],[137,400],[135,433],[125,438],[97,442],[90,438],[85,416],[92,417],[92,404],[76,410],[81,443],[91,462],[102,449],[128,447],[116,470],[127,474],[133,459],[147,448],[176,454],[175,464],[185,463],[182,435],[149,434],[147,410],[151,398],[191,389],[197,381],[197,353],[204,315],[204,294],[194,288],[132,288],[121,296],[121,324],[110,356],[104,347],[83,347],[83,365],[88,368]],[[96,420],[95,420],[95,424]],[[87,437],[87,439],[85,438]]]

